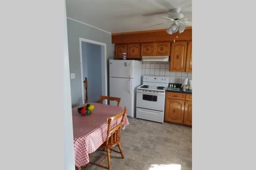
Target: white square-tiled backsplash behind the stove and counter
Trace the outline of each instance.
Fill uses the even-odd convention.
[[[185,78],[192,79],[191,72],[169,71],[169,62],[142,62],[142,76],[169,77],[170,83],[182,83]]]

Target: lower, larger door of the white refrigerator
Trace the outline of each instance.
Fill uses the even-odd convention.
[[[110,96],[121,98],[120,107],[127,108],[127,116],[134,117],[134,88],[133,79],[110,77]],[[115,101],[110,105],[116,106]]]

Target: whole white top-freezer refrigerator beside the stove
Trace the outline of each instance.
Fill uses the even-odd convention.
[[[120,106],[127,108],[127,116],[135,117],[136,88],[141,85],[141,61],[113,60],[110,65],[110,96],[121,98]],[[110,105],[115,105],[111,101]]]

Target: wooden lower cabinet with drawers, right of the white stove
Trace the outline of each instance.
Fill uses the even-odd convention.
[[[192,94],[166,92],[164,121],[192,126]]]

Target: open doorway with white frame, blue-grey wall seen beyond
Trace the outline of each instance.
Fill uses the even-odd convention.
[[[82,84],[82,104],[86,91],[83,81],[87,78],[88,103],[99,100],[100,95],[107,95],[106,44],[79,38],[80,66]]]

